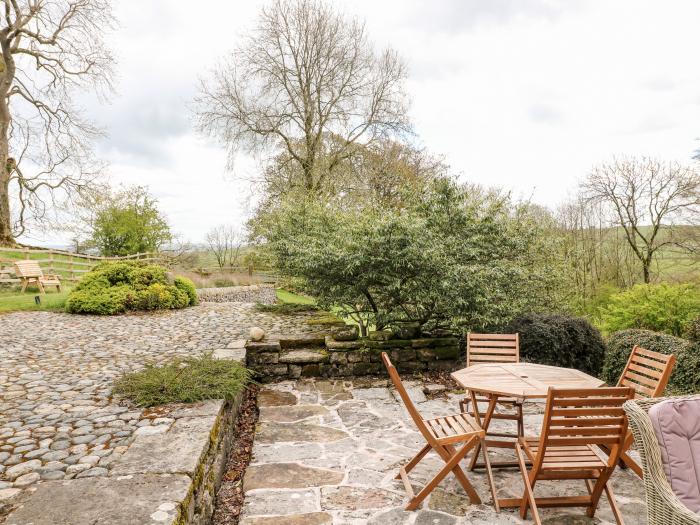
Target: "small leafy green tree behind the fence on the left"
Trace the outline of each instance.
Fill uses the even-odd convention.
[[[102,255],[157,251],[172,240],[158,202],[143,186],[132,186],[96,204],[91,223],[92,243]]]

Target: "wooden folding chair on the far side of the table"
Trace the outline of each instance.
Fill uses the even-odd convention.
[[[519,334],[467,334],[467,367],[478,363],[519,363],[520,362],[520,337]],[[467,392],[467,397],[459,402],[462,412],[469,412],[469,403],[472,404],[471,414],[481,421],[483,414],[479,412],[478,403],[488,403],[486,397],[478,397],[475,392]],[[500,397],[498,404],[515,409],[515,413],[494,412],[491,419],[507,419],[518,424],[517,435],[490,432],[490,436],[497,437],[521,437],[523,428],[523,400],[512,397]]]

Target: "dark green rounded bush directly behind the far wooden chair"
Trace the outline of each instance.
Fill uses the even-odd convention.
[[[520,358],[544,365],[576,368],[598,375],[605,356],[600,332],[582,317],[523,314],[504,329],[520,334]]]

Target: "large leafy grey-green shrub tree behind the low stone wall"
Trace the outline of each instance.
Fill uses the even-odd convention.
[[[401,208],[285,202],[264,230],[278,268],[363,331],[496,327],[559,301],[547,223],[507,195],[437,179]]]

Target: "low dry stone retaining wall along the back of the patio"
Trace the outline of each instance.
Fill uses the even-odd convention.
[[[336,341],[330,336],[274,339],[246,344],[246,366],[263,382],[298,377],[384,374],[387,352],[403,373],[462,368],[459,338]]]

